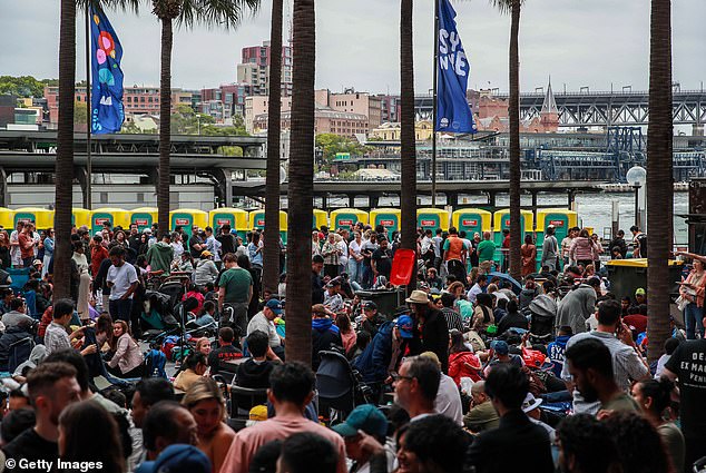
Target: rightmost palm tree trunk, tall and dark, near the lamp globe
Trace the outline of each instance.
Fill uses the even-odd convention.
[[[669,331],[669,254],[674,233],[671,162],[671,1],[653,0],[647,129],[647,333],[648,357],[661,356]]]

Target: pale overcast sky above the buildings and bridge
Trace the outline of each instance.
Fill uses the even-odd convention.
[[[293,0],[285,0],[292,8]],[[125,50],[125,85],[159,83],[159,24],[146,2],[139,17],[109,13]],[[431,87],[433,1],[414,9],[415,90]],[[471,62],[470,88],[507,90],[510,19],[488,0],[454,2],[459,33]],[[178,30],[173,87],[202,88],[233,82],[241,48],[269,38],[271,0],[234,31]],[[399,0],[316,2],[316,87],[372,92],[399,91]],[[81,17],[82,18],[82,17]],[[291,18],[291,14],[290,14]],[[706,0],[673,2],[674,79],[682,89],[706,81]],[[285,26],[285,29],[287,27]],[[84,76],[79,23],[77,80]],[[58,76],[58,0],[0,0],[0,76]],[[529,0],[520,24],[523,91],[547,83],[555,90],[582,86],[609,90],[631,85],[646,90],[649,59],[648,0]]]

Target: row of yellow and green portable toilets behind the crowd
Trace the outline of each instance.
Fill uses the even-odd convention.
[[[355,208],[340,208],[331,213],[314,209],[312,227],[321,228],[322,225],[334,229],[350,228],[359,221],[370,224],[375,227],[384,226],[390,235],[400,229],[400,209],[377,208],[370,213]],[[38,207],[24,207],[17,209],[0,208],[0,225],[4,228],[13,228],[17,221],[32,221],[38,229],[53,227],[53,210]],[[546,208],[537,211],[537,219],[529,210],[522,210],[520,215],[522,227],[522,239],[527,233],[535,234],[537,244],[543,242],[545,229],[549,225],[556,228],[556,236],[559,242],[567,235],[568,229],[578,225],[576,211],[562,208]],[[130,224],[136,224],[141,231],[151,227],[157,221],[157,209],[154,207],[141,207],[133,210],[121,208],[98,208],[87,210],[75,208],[72,223],[77,227],[88,226],[92,233],[100,231],[104,223],[110,221],[112,226],[128,228]],[[210,211],[182,208],[169,213],[169,228],[182,226],[190,235],[194,225],[199,228],[210,226],[213,228],[224,225],[244,236],[246,231],[254,228],[265,227],[265,211],[246,211],[239,208],[217,208]],[[490,213],[480,208],[461,208],[453,213],[439,208],[420,208],[416,210],[416,226],[423,229],[437,228],[448,230],[450,226],[460,230],[465,230],[468,238],[473,238],[474,233],[482,235],[483,231],[492,231],[496,244],[502,243],[502,230],[510,227],[510,214],[508,209]],[[280,211],[280,231],[282,238],[287,239],[287,214]]]

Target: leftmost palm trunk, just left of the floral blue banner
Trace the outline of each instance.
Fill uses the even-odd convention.
[[[59,33],[59,125],[56,164],[56,249],[53,297],[69,297],[71,206],[73,205],[73,95],[76,83],[76,0],[61,0]]]

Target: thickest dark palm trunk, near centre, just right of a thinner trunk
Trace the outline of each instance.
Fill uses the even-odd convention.
[[[314,193],[314,0],[294,0],[294,57],[287,237],[286,359],[312,363],[312,214]],[[278,121],[278,117],[277,117]]]

